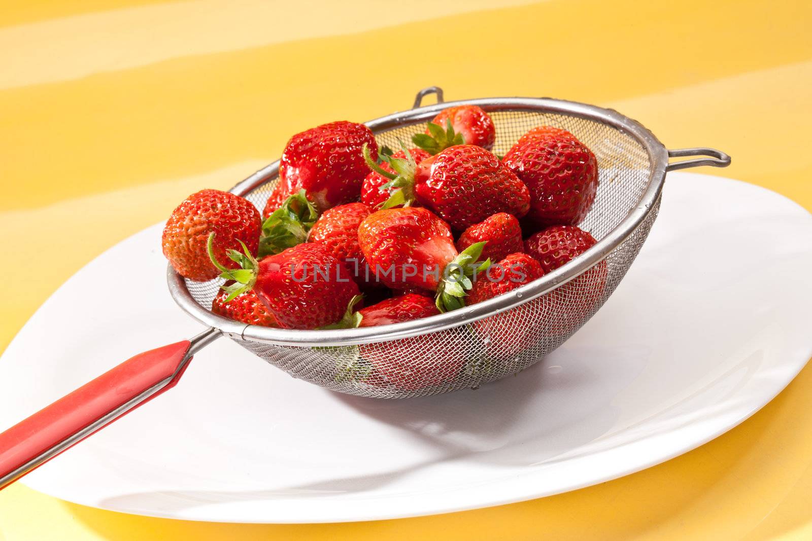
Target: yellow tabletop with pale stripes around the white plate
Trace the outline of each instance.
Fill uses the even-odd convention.
[[[703,173],[812,208],[810,20],[810,2],[736,0],[2,2],[0,346],[71,273],[192,191],[231,187],[296,131],[406,109],[434,84],[451,100],[618,109],[670,148],[732,155]],[[794,540],[812,539],[810,496],[812,367],[711,443],[560,496],[229,525],[90,509],[17,484],[0,492],[0,539]]]

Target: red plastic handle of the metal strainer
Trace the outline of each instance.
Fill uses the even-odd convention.
[[[184,359],[188,361],[186,354],[189,346],[190,342],[184,340],[137,354],[0,433],[0,488],[41,466],[121,415],[174,387],[188,366]],[[166,381],[167,379],[169,380]],[[147,393],[164,381],[166,384],[162,387],[154,389],[153,393]],[[140,395],[145,396],[93,432],[77,437],[93,427],[94,423]],[[60,447],[64,449],[59,449]],[[20,471],[21,468],[24,470]]]

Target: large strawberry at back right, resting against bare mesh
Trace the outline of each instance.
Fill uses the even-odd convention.
[[[598,191],[598,161],[589,148],[566,137],[536,137],[503,158],[530,190],[525,218],[534,227],[577,225]]]

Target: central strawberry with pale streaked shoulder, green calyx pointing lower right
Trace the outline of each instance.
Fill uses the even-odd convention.
[[[440,311],[464,306],[465,290],[472,285],[468,277],[485,244],[458,254],[448,225],[427,208],[370,214],[358,228],[358,243],[377,280],[393,289],[436,291]]]

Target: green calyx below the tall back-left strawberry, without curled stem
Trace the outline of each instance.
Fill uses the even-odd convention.
[[[304,243],[317,219],[318,211],[307,199],[304,190],[291,195],[262,222],[257,255],[262,258],[278,254]]]

